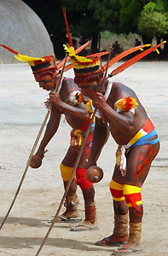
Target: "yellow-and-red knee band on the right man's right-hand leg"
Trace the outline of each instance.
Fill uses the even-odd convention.
[[[124,195],[127,207],[136,208],[142,204],[141,188],[125,184]]]

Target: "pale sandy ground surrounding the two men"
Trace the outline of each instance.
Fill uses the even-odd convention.
[[[113,68],[118,66],[119,63]],[[161,143],[142,188],[144,250],[140,256],[168,255],[167,70],[168,62],[139,61],[113,79],[136,90],[154,121]],[[72,71],[65,75],[72,77]],[[0,223],[13,200],[47,113],[43,105],[47,97],[48,92],[38,88],[28,65],[0,65]],[[59,166],[69,146],[69,131],[62,117],[59,131],[47,147],[49,152],[43,165],[37,170],[28,169],[20,194],[0,231],[0,256],[33,256],[38,252],[49,230],[48,220],[55,216],[64,192]],[[104,171],[103,179],[95,185],[100,230],[70,232],[73,224],[55,224],[39,255],[102,256],[112,253],[112,247],[96,247],[94,243],[113,231],[113,201],[108,183],[115,150],[116,144],[110,137],[98,160]],[[79,188],[78,197],[80,217],[84,218],[84,201]]]

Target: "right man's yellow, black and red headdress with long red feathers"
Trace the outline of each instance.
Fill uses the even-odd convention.
[[[99,73],[103,73],[106,68],[112,67],[112,65],[114,63],[123,59],[125,56],[130,55],[131,53],[136,52],[139,49],[143,50],[143,48],[151,46],[151,44],[143,44],[143,45],[133,47],[131,49],[127,49],[124,52],[120,53],[119,55],[116,55],[115,57],[113,57],[113,59],[111,59],[110,61],[108,61],[108,66],[106,63],[102,67],[101,66],[101,53],[98,53],[97,55],[94,55],[94,56],[90,55],[88,57],[78,56],[75,54],[74,48],[72,46],[72,38],[71,38],[71,35],[69,32],[69,27],[68,27],[68,23],[67,23],[66,9],[64,9],[64,8],[63,8],[63,14],[64,14],[65,22],[66,22],[67,35],[68,35],[69,44],[70,44],[70,45],[63,44],[63,47],[64,47],[65,51],[67,52],[67,54],[69,55],[69,58],[72,62],[72,64],[68,65],[68,68],[73,67],[73,70],[75,73],[74,80],[77,84],[83,84],[82,86],[84,86],[84,83],[85,83],[85,85],[87,85],[88,82],[93,81],[94,79],[97,80],[97,75],[99,76],[99,79],[100,79],[101,75]],[[144,56],[148,55],[152,51],[154,51],[154,50],[157,51],[157,48],[159,48],[162,44],[165,44],[165,43],[166,43],[166,41],[164,41],[161,44],[158,44],[154,47],[151,47],[150,49],[145,50],[144,52],[142,52],[139,55],[136,55],[129,61],[126,61],[124,64],[120,65],[118,68],[113,70],[113,72],[110,73],[109,76],[114,76],[118,73],[123,72],[126,68],[128,68],[131,65],[133,65],[134,63],[136,63],[136,61],[141,60]]]

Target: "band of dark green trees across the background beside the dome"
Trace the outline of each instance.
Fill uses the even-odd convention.
[[[141,32],[143,41],[144,32],[150,35],[151,40],[154,35],[166,33],[167,0],[22,1],[30,6],[43,21],[57,57],[65,55],[62,44],[67,43],[62,6],[67,10],[67,20],[73,43],[75,43],[75,39],[81,44],[84,44],[86,40],[91,40],[93,51],[97,50],[102,32],[108,31],[118,35]],[[150,11],[144,11],[145,5],[150,7]],[[153,6],[155,6],[154,9]]]

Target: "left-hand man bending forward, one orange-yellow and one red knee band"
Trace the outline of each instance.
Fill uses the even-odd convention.
[[[61,119],[61,113],[64,113],[67,123],[72,127],[71,132],[71,145],[67,150],[65,158],[61,162],[61,177],[63,179],[64,187],[66,189],[68,180],[71,176],[75,160],[78,156],[78,149],[84,138],[84,131],[90,123],[90,102],[85,102],[84,98],[78,89],[78,85],[74,83],[73,79],[63,78],[57,92],[52,91],[55,89],[55,84],[59,79],[57,68],[55,66],[54,56],[44,57],[45,61],[35,61],[35,66],[32,66],[32,71],[36,81],[43,90],[51,90],[49,92],[49,102],[52,103],[49,123],[44,133],[43,139],[39,145],[38,151],[32,156],[30,166],[38,167],[39,160],[43,160],[44,150],[51,138],[55,135]],[[88,108],[88,110],[87,110]],[[94,123],[90,129],[90,135],[87,139],[84,152],[81,160],[78,163],[76,170],[76,183],[82,189],[84,195],[85,206],[85,219],[84,224],[81,224],[78,230],[96,230],[96,205],[94,201],[95,189],[93,183],[90,183],[86,177],[84,168],[85,161],[90,154],[90,147],[92,143]],[[66,212],[62,213],[58,218],[58,222],[78,222],[78,197],[76,195],[77,184],[75,183],[76,177],[73,177],[70,189],[67,192],[65,206]],[[76,231],[76,227],[71,230]]]

